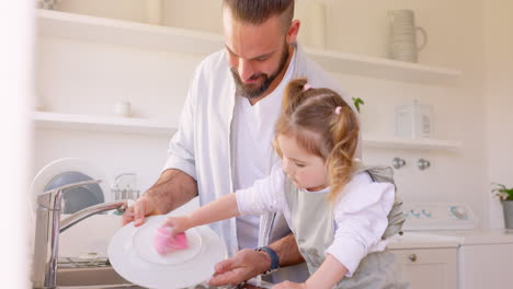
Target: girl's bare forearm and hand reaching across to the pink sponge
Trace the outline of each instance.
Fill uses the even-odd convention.
[[[239,216],[236,194],[220,197],[187,216],[169,217],[163,226],[173,228],[173,233],[181,233],[190,228],[226,220]]]

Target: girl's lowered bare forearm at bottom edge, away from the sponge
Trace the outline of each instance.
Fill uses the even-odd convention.
[[[273,289],[331,289],[347,274],[342,263],[330,254],[326,255],[322,265],[304,284],[281,282]]]

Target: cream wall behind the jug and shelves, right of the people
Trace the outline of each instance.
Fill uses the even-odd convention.
[[[467,203],[488,224],[486,200],[483,13],[481,0],[456,1],[328,1],[327,46],[329,49],[386,57],[387,11],[412,9],[417,25],[426,30],[428,46],[419,62],[460,70],[463,77],[448,86],[400,83],[338,76],[351,95],[365,100],[364,130],[373,135],[394,134],[394,107],[413,99],[435,108],[435,137],[461,140],[458,152],[367,150],[367,162],[407,160],[397,171],[406,200]],[[476,137],[478,136],[478,137]],[[480,137],[479,137],[480,136]],[[420,171],[418,159],[431,161]]]

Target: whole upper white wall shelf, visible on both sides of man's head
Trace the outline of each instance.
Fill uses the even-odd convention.
[[[208,55],[224,47],[223,36],[178,27],[37,10],[38,35],[67,39],[127,45],[173,53]],[[386,58],[305,49],[328,71],[420,83],[443,83],[459,71]]]

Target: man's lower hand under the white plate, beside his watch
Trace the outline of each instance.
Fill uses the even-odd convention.
[[[231,258],[215,266],[215,274],[208,281],[212,286],[237,285],[249,280],[271,267],[271,258],[265,252],[244,248]]]

